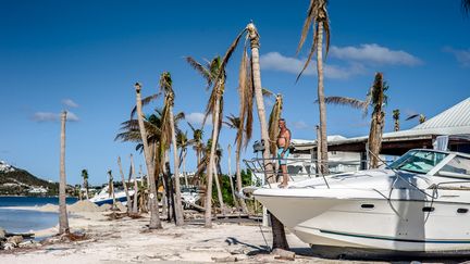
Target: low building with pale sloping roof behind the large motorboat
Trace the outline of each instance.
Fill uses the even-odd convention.
[[[407,130],[385,133],[381,155],[401,155],[410,149],[440,149],[470,153],[470,98]],[[327,138],[330,167],[335,172],[366,168],[368,136]],[[293,140],[295,158],[317,158],[317,140]],[[339,167],[339,162],[361,161],[360,166]],[[336,164],[335,164],[336,163]],[[299,164],[296,164],[299,166]],[[296,169],[293,167],[293,169]],[[294,171],[293,171],[294,172]]]

